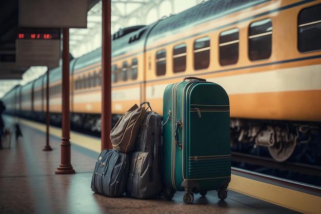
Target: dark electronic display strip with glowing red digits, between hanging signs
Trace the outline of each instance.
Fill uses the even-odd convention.
[[[19,28],[18,39],[60,40],[60,28]]]

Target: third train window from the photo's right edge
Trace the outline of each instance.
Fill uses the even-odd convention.
[[[232,65],[238,61],[239,33],[237,28],[219,34],[219,64]]]

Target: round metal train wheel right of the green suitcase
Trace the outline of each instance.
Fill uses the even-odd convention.
[[[295,149],[294,141],[288,143],[275,143],[269,147],[269,152],[274,160],[277,162],[284,162],[291,157]]]

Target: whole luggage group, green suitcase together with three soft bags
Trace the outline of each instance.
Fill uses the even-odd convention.
[[[96,162],[92,190],[108,197],[126,192],[136,199],[163,192],[168,200],[175,191],[185,191],[186,204],[193,202],[193,193],[205,196],[217,190],[224,200],[231,180],[225,90],[196,77],[170,84],[164,92],[163,116],[144,102],[119,119],[110,135],[114,149],[103,150]]]

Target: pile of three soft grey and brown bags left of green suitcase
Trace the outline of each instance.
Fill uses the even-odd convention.
[[[143,107],[144,104],[148,108]],[[148,102],[134,105],[110,133],[114,149],[105,149],[96,162],[91,189],[108,197],[151,199],[163,191],[163,118]]]

